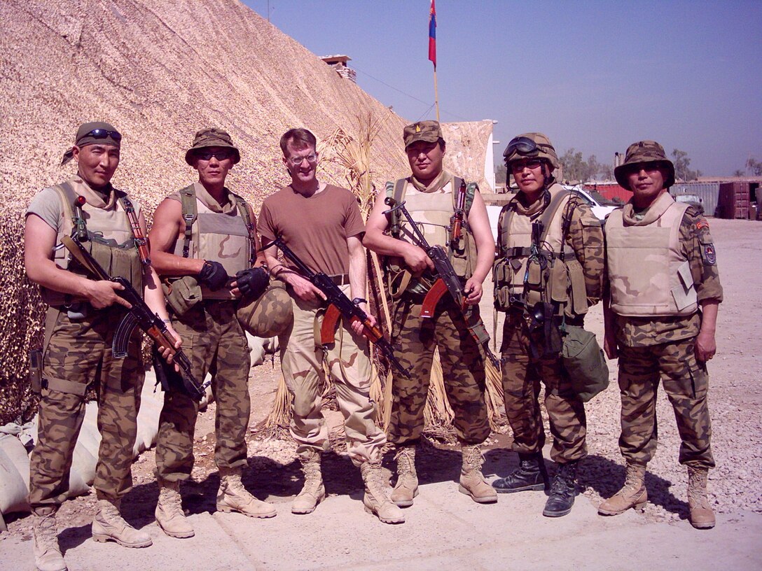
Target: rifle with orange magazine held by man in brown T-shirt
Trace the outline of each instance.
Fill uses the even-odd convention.
[[[328,276],[328,274],[323,272],[313,272],[310,270],[309,267],[307,267],[306,264],[293,253],[293,250],[283,242],[281,236],[278,236],[270,244],[267,244],[265,248],[271,246],[279,247],[280,251],[283,252],[283,255],[291,260],[296,266],[297,272],[304,278],[309,279],[312,285],[315,285],[315,287],[325,295],[325,303],[328,304],[328,308],[325,310],[323,323],[320,327],[320,343],[328,345],[334,342],[336,324],[339,317],[344,316],[344,318],[351,323],[360,321],[360,323],[363,324],[363,333],[365,333],[368,340],[370,340],[371,343],[375,343],[376,346],[381,349],[381,352],[386,359],[392,363],[402,375],[405,375],[405,377],[410,376],[410,370],[403,367],[402,363],[400,363],[394,356],[394,349],[389,341],[386,340],[386,337],[383,336],[381,329],[377,325],[372,325],[370,323],[368,314],[358,308],[357,305],[354,305],[350,298],[347,298],[347,295],[345,295],[338,285],[333,282],[331,276]]]

